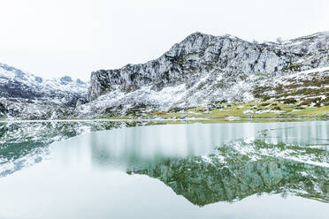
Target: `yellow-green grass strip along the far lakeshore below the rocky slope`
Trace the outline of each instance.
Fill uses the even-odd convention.
[[[196,107],[184,112],[153,112],[147,117],[226,119],[230,117],[248,118],[292,118],[292,117],[329,117],[329,107],[301,108],[300,102],[252,102],[239,104],[222,103],[214,107]]]

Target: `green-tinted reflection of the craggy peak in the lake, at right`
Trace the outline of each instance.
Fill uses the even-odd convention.
[[[255,193],[289,193],[329,202],[328,163],[325,149],[256,140],[232,142],[219,147],[217,154],[167,160],[128,173],[158,178],[198,206],[241,200]]]

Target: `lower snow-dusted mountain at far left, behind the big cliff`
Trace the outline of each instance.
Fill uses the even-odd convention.
[[[47,119],[68,117],[77,103],[86,102],[88,84],[69,76],[42,79],[0,64],[0,116]]]

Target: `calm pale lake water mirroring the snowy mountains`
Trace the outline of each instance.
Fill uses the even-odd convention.
[[[0,218],[329,215],[328,121],[123,127],[37,155],[31,140],[2,142]]]

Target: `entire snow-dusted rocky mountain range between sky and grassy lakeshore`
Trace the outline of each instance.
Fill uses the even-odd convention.
[[[329,32],[264,43],[190,34],[146,64],[92,72],[90,84],[0,64],[0,114],[8,118],[106,117],[270,99],[326,105],[328,96]]]

